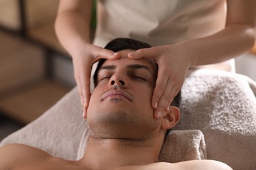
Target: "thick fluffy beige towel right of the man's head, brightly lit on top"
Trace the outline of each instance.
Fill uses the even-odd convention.
[[[207,158],[234,170],[256,169],[256,84],[247,76],[198,70],[182,86],[181,121],[174,129],[200,129]]]

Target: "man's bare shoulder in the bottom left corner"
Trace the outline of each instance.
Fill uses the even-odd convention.
[[[12,169],[14,166],[52,158],[50,154],[25,144],[7,144],[0,147],[0,169]]]

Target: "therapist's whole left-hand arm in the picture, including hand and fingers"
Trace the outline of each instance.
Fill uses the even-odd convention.
[[[91,67],[99,58],[115,59],[114,52],[90,42],[91,0],[60,0],[55,22],[56,35],[72,56],[83,117],[90,99]]]

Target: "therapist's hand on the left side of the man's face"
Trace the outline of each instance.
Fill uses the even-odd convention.
[[[114,54],[111,50],[106,50],[93,44],[82,44],[72,54],[74,65],[74,76],[77,83],[81,105],[83,107],[83,117],[87,116],[87,108],[90,99],[90,78],[93,64],[100,58],[117,59],[119,54]]]

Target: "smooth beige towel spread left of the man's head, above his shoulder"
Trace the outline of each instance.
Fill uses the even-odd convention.
[[[0,146],[28,144],[53,156],[75,160],[79,141],[86,128],[77,88],[74,88],[37,120],[3,139]]]

